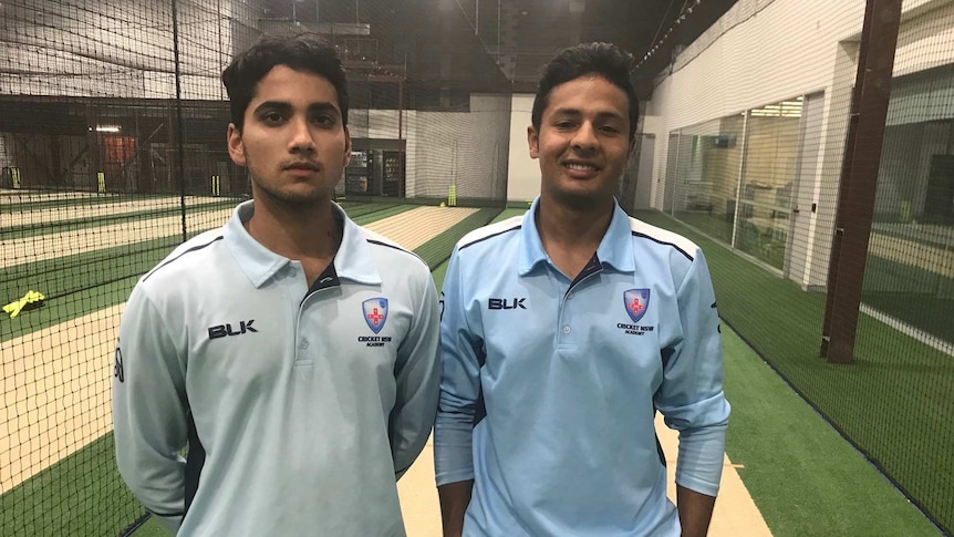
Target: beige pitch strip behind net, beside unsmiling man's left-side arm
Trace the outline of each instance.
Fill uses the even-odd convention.
[[[106,308],[0,343],[0,494],[113,428],[121,311]]]

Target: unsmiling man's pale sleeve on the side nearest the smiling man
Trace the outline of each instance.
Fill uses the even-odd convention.
[[[437,391],[440,385],[440,335],[437,291],[425,273],[423,300],[414,314],[411,330],[398,350],[395,368],[397,396],[391,414],[391,453],[400,478],[411,467],[434,425]]]

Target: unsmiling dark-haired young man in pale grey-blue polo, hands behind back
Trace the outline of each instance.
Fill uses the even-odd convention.
[[[437,404],[431,272],[331,200],[351,154],[334,49],[266,37],[222,82],[253,199],[129,297],[120,472],[180,536],[403,536],[395,481]]]

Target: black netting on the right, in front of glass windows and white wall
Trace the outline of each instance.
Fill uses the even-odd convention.
[[[864,269],[853,360],[819,357],[827,295],[860,280],[828,281],[837,211],[870,210],[854,198],[838,207],[864,3],[820,2],[809,17],[798,2],[743,0],[683,51],[653,96],[651,114],[668,125],[653,203],[712,245],[726,322],[950,531],[950,3],[903,2],[868,254],[842,264]],[[870,155],[862,147],[859,158]]]

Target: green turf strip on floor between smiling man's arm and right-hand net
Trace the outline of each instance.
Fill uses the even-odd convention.
[[[726,453],[776,537],[937,536],[934,526],[727,327]]]

